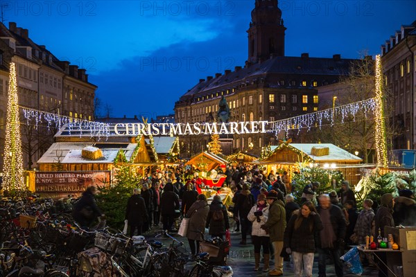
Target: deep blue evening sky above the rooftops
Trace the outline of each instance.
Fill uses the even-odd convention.
[[[3,21],[77,64],[111,116],[173,114],[200,78],[243,66],[254,0],[0,1]],[[279,1],[286,55],[356,58],[416,19],[416,1]]]

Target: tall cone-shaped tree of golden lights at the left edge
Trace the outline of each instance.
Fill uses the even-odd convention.
[[[6,114],[6,143],[4,146],[3,188],[8,191],[24,190],[23,159],[21,157],[21,136],[19,101],[15,63],[10,63],[10,82]]]

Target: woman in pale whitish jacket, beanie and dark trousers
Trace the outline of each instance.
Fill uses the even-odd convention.
[[[266,195],[259,194],[257,196],[257,203],[252,206],[248,213],[248,220],[252,222],[252,242],[254,244],[254,271],[259,271],[260,265],[260,250],[263,247],[264,267],[263,272],[269,271],[270,261],[270,236],[261,229],[262,224],[266,224],[268,219],[269,205],[266,202]]]

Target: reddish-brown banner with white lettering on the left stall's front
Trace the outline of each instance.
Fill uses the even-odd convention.
[[[36,172],[35,191],[53,195],[80,194],[88,186],[110,183],[110,171]]]

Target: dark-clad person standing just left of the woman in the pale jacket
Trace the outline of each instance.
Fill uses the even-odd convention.
[[[247,244],[247,233],[250,233],[252,223],[248,220],[247,216],[250,213],[252,206],[254,205],[254,197],[249,190],[247,183],[243,184],[243,189],[236,199],[236,206],[238,211],[238,217],[241,224],[241,242],[240,244]]]

